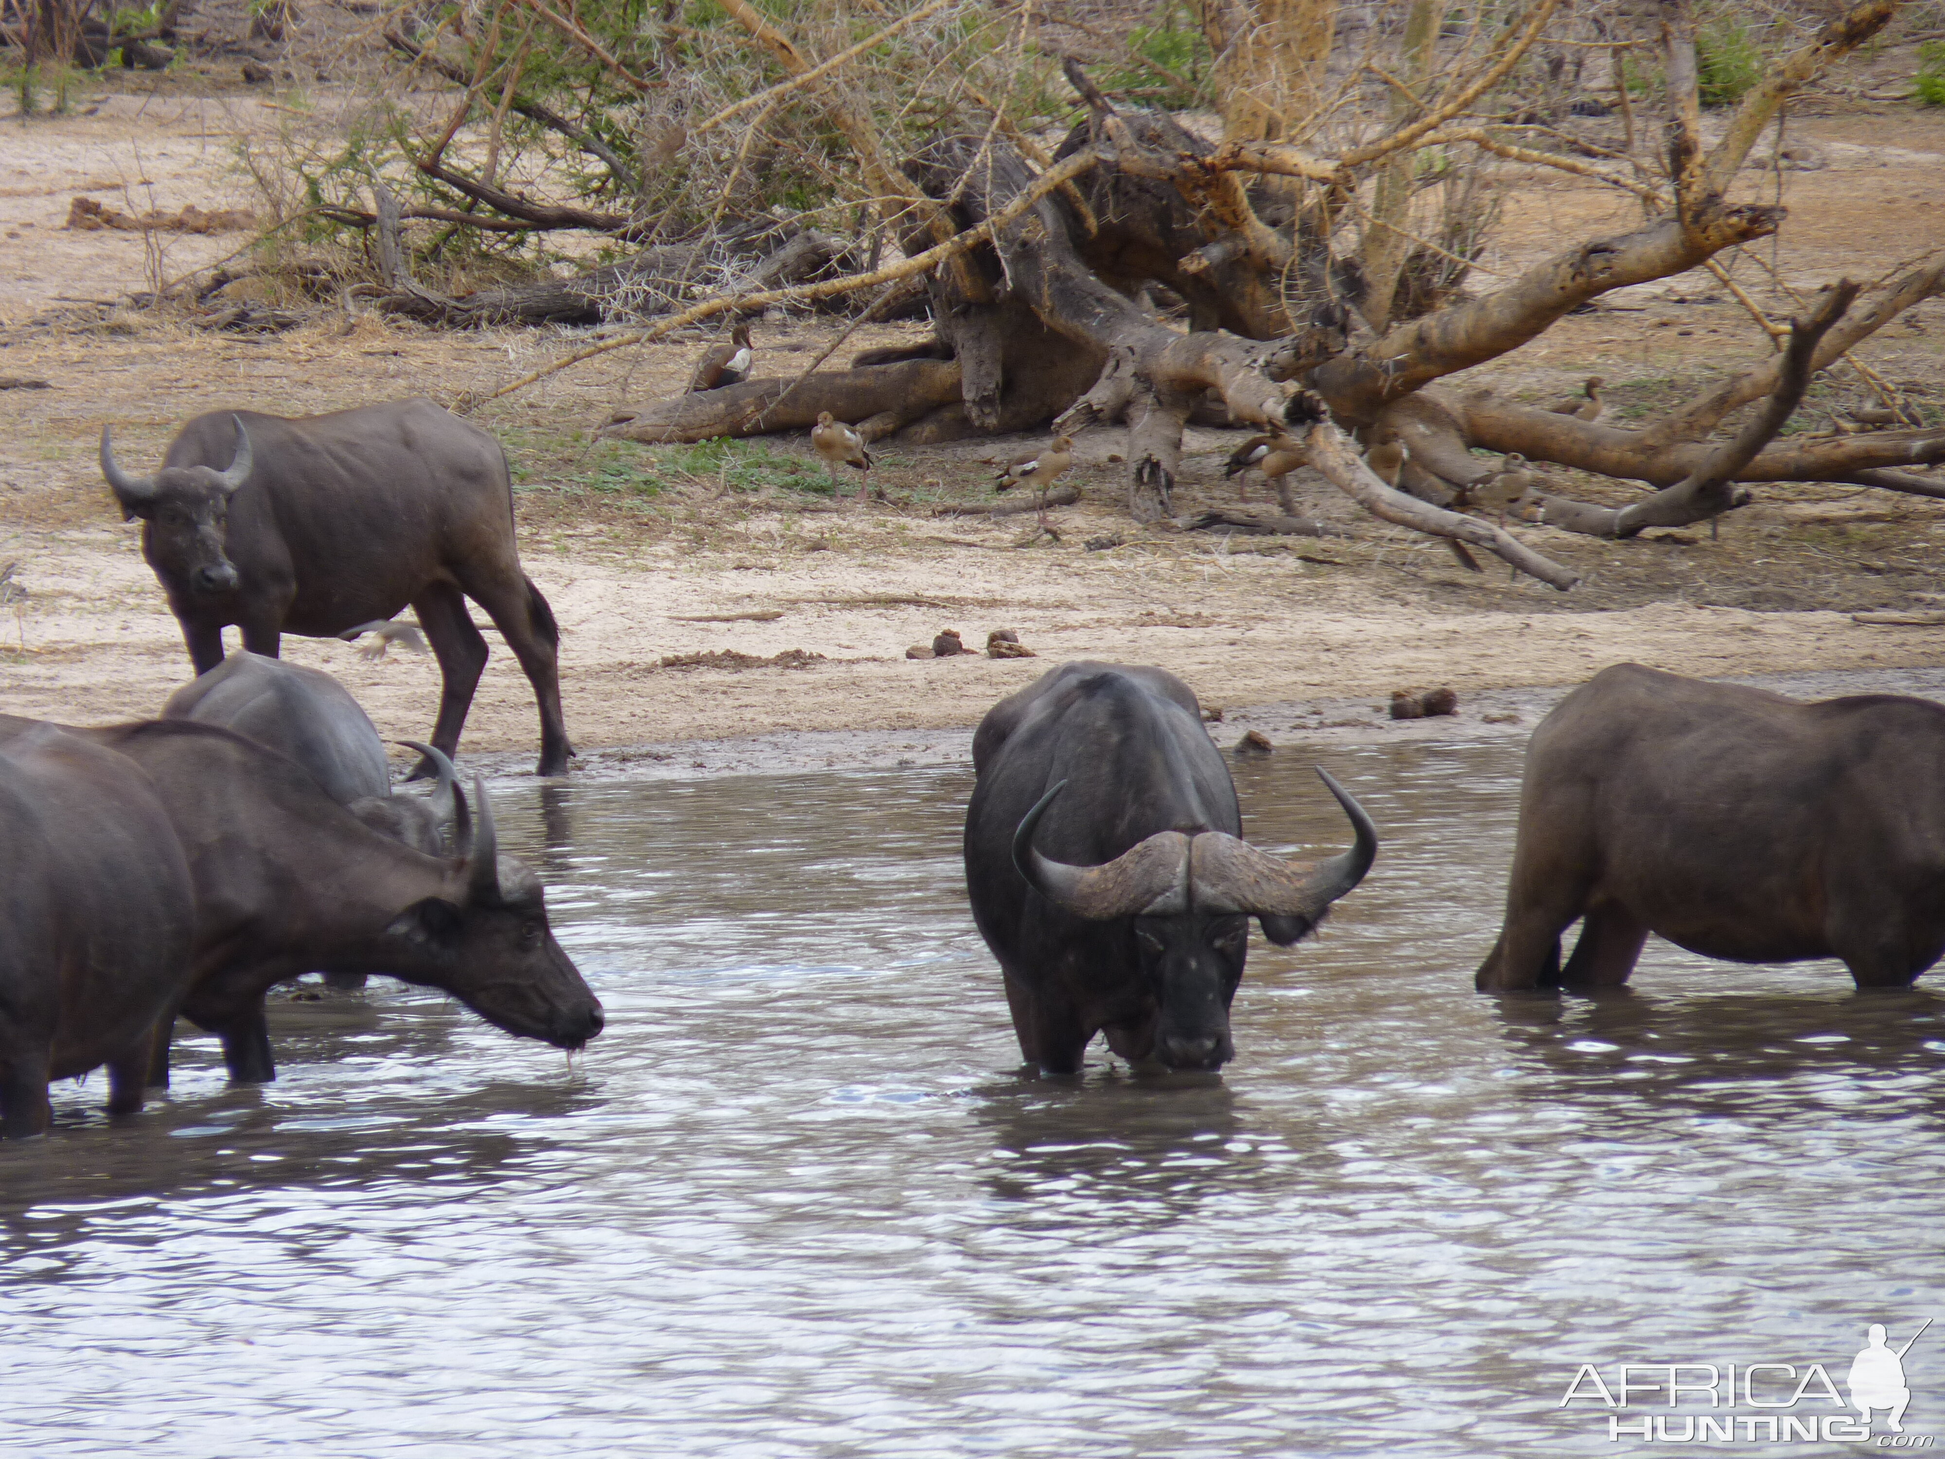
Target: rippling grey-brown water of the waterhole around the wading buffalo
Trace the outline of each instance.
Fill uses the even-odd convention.
[[[0,1441],[1616,1453],[1583,1362],[1842,1383],[1945,1315],[1939,998],[1661,943],[1634,996],[1480,998],[1521,745],[1317,755],[1385,848],[1321,942],[1255,940],[1221,1078],[1019,1076],[969,772],[508,780],[607,1035],[373,982],[272,1006],[263,1089],[210,1039],[136,1121],[62,1085],[0,1146]],[[1237,768],[1260,844],[1342,842],[1307,763]],[[1945,1334],[1908,1371],[1945,1426]]]

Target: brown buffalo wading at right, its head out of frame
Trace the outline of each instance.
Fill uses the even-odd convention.
[[[1533,731],[1505,926],[1476,982],[1612,988],[1657,932],[1733,963],[1840,957],[1859,988],[1902,988],[1945,949],[1941,875],[1945,708],[1620,663]]]

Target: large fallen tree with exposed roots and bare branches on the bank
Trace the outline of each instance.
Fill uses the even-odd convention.
[[[1787,338],[1782,354],[1640,426],[1439,385],[1529,344],[1601,294],[1706,267],[1772,235],[1786,210],[1733,200],[1737,171],[1784,101],[1877,35],[1896,4],[1852,4],[1780,56],[1706,150],[1694,23],[1686,4],[1671,0],[1659,37],[1671,78],[1659,181],[1618,161],[1535,152],[1509,142],[1503,126],[1465,125],[1480,97],[1542,41],[1554,10],[1552,0],[1537,0],[1476,64],[1447,76],[1441,93],[1414,97],[1385,134],[1336,156],[1253,136],[1247,126],[1225,125],[1221,140],[1196,136],[1165,113],[1116,107],[1070,64],[1087,121],[1054,158],[1037,165],[986,130],[936,138],[902,167],[945,210],[957,237],[984,233],[963,267],[928,274],[934,340],[910,358],[860,358],[848,372],[646,405],[607,430],[642,442],[702,440],[799,430],[832,410],[869,440],[922,444],[1124,422],[1128,506],[1146,519],[1173,510],[1183,428],[1198,412],[1301,426],[1313,467],[1373,514],[1482,547],[1556,587],[1570,587],[1575,574],[1465,516],[1468,492],[1502,471],[1476,451],[1655,488],[1626,508],[1546,492],[1529,504],[1548,525],[1599,537],[1731,510],[1749,500],[1737,482],[1846,480],[1945,496],[1945,482],[1912,471],[1945,459],[1945,430],[1774,440],[1815,372],[1945,290],[1945,265],[1935,261],[1863,290],[1830,290],[1789,329],[1764,319]],[[1408,292],[1398,284],[1404,265],[1373,303],[1369,280],[1332,253],[1330,228],[1363,206],[1358,189],[1395,160],[1467,144],[1599,177],[1642,198],[1647,216],[1632,231],[1579,241],[1490,294],[1393,321],[1395,302],[1402,307]],[[1066,171],[1058,187],[1044,185],[1052,165]],[[932,239],[916,220],[906,233],[912,253]],[[1437,251],[1406,251],[1406,263],[1422,263],[1428,249]],[[1148,305],[1148,288],[1181,298],[1188,333]],[[1752,418],[1731,440],[1714,440],[1750,405]],[[1402,447],[1397,486],[1371,473],[1358,445]]]

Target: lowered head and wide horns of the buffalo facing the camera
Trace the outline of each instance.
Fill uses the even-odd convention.
[[[1243,980],[1249,918],[1288,947],[1377,858],[1377,829],[1325,770],[1317,774],[1350,817],[1356,842],[1319,866],[1278,860],[1221,831],[1161,831],[1103,866],[1041,856],[1033,831],[1066,780],[1027,811],[1013,835],[1013,866],[1035,891],[1091,922],[1130,918],[1142,982],[1155,998],[1153,1052],[1169,1068],[1212,1070],[1235,1056],[1229,1002]]]

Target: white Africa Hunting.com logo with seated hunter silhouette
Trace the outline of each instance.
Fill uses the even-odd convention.
[[[1904,1356],[1931,1327],[1927,1317],[1904,1342],[1892,1344],[1883,1323],[1871,1323],[1863,1348],[1850,1362],[1838,1393],[1822,1364],[1616,1364],[1609,1379],[1581,1364],[1560,1408],[1607,1408],[1607,1438],[1614,1443],[1840,1443],[1869,1441],[1879,1449],[1933,1449],[1935,1434],[1908,1434],[1904,1412],[1912,1389]],[[1675,1412],[1640,1412],[1667,1408]],[[1710,1412],[1702,1412],[1708,1408]],[[1832,1412],[1832,1408],[1836,1412]],[[1634,1410],[1634,1412],[1628,1412]],[[1883,1416],[1883,1432],[1873,1418]]]

